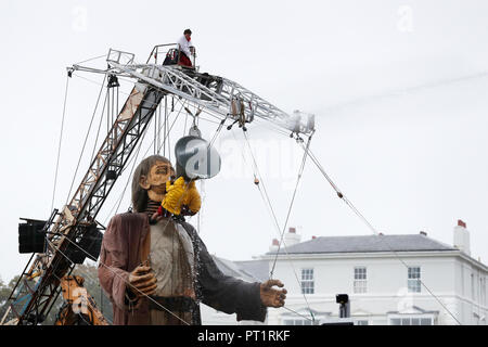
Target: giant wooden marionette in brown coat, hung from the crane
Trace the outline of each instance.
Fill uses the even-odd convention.
[[[99,279],[114,308],[114,324],[201,324],[198,303],[237,320],[265,321],[282,307],[279,280],[249,283],[224,275],[183,216],[201,207],[195,182],[175,179],[170,162],[142,160],[132,178],[133,213],[116,215],[105,231]]]

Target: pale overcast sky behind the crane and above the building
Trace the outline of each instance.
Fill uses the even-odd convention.
[[[167,3],[0,2],[3,280],[28,259],[17,253],[18,218],[50,215],[66,66],[110,48],[143,62],[154,44],[175,42],[188,27],[201,72],[237,81],[286,112],[316,114],[312,151],[377,230],[423,230],[452,244],[452,229],[463,219],[472,256],[488,261],[486,1]],[[69,80],[56,208],[67,198],[101,82],[101,76],[76,75]],[[182,119],[171,143],[183,133]],[[215,129],[202,125],[207,139]],[[248,134],[283,224],[301,152],[266,127],[251,125]],[[216,147],[222,171],[205,182],[201,236],[217,256],[251,259],[268,250],[278,231],[253,183],[248,154],[241,152],[242,133],[223,130]],[[87,169],[82,160],[76,187]],[[100,211],[101,222],[111,217],[129,171]],[[128,206],[126,194],[119,211]],[[304,241],[371,234],[311,162],[288,224]]]

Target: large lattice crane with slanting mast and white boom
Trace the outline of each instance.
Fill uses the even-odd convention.
[[[24,236],[37,237],[37,243],[20,249],[31,256],[8,299],[9,310],[0,324],[40,324],[63,287],[82,283],[70,273],[87,257],[97,260],[104,229],[97,221],[97,215],[164,98],[184,99],[220,118],[221,125],[230,120],[228,129],[237,124],[247,130],[246,124],[261,119],[290,131],[297,140],[300,134],[314,131],[312,115],[299,112],[290,115],[230,79],[179,64],[159,64],[157,57],[162,50],[171,46],[155,46],[145,64],[136,64],[132,53],[110,49],[106,69],[77,64],[67,68],[69,77],[75,70],[104,74],[108,77],[107,88],[117,87],[118,77],[133,80],[134,86],[124,106],[117,110],[112,127],[70,201],[61,210],[54,209],[46,221],[24,219],[20,224],[20,241]],[[65,299],[69,301],[73,297]],[[70,320],[64,316],[62,321]],[[98,321],[103,322],[100,317]]]

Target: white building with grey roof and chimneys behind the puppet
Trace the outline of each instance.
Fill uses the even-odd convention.
[[[286,309],[269,309],[267,324],[311,324],[312,316],[316,324],[337,321],[336,294],[348,294],[355,324],[487,325],[488,267],[470,256],[461,220],[453,246],[424,232],[299,241],[291,228],[278,256],[274,242],[259,260],[220,259],[223,272],[247,281],[267,280],[275,260],[273,278],[288,294]],[[204,324],[235,324],[235,316],[202,313]]]

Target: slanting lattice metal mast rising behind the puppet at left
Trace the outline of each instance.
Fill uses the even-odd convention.
[[[70,244],[79,244],[86,231],[82,227],[94,222],[165,94],[151,86],[136,85],[72,201],[63,211],[55,210],[47,222],[47,250],[33,255],[9,298],[17,324],[37,324],[51,310],[60,294],[61,278],[75,267],[66,259],[66,253],[73,248]]]

